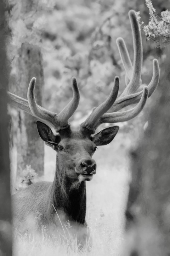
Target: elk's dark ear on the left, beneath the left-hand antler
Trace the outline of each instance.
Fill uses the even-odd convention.
[[[53,145],[57,145],[60,142],[60,134],[54,135],[50,127],[46,124],[36,121],[36,126],[41,139],[44,140],[48,146],[53,147]]]

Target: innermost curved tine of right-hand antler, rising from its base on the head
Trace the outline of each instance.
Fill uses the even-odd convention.
[[[98,119],[108,111],[108,109],[113,105],[115,102],[119,91],[119,77],[116,76],[114,79],[113,88],[111,94],[108,96],[107,100],[104,101],[101,105],[95,108],[90,116],[81,123],[81,127],[91,130],[95,132],[95,125]]]

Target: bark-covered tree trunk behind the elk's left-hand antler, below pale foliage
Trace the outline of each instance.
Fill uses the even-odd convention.
[[[27,98],[28,85],[33,76],[36,78],[35,98],[42,105],[42,89],[44,75],[42,69],[42,55],[39,47],[22,44],[18,50],[17,78],[15,94]],[[26,165],[39,174],[44,172],[44,143],[40,139],[36,128],[36,118],[18,111],[17,126],[17,169],[23,171]]]

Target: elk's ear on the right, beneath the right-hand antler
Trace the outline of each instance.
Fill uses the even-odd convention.
[[[96,144],[96,146],[107,145],[114,139],[118,130],[119,126],[106,128],[95,135],[91,135],[91,140]]]

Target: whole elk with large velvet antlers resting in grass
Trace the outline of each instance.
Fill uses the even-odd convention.
[[[97,146],[110,143],[119,127],[105,128],[95,134],[102,123],[128,121],[141,112],[147,98],[152,95],[159,81],[159,65],[153,60],[153,76],[148,86],[137,92],[141,85],[142,41],[135,11],[129,11],[134,44],[134,64],[132,65],[123,38],[117,39],[121,60],[126,71],[126,87],[118,96],[119,77],[114,79],[113,89],[103,103],[94,108],[79,130],[70,127],[68,119],[79,104],[77,81],[72,78],[73,98],[59,113],[50,112],[36,104],[34,88],[36,79],[32,78],[28,87],[28,100],[8,92],[9,103],[35,116],[38,133],[45,144],[57,153],[56,172],[53,182],[37,182],[13,195],[13,214],[17,228],[22,231],[41,229],[42,225],[58,228],[58,215],[64,223],[86,226],[86,183],[96,174],[96,162],[92,159]],[[122,108],[137,105],[126,111]],[[36,218],[36,212],[40,218]],[[30,217],[30,218],[29,218]],[[32,217],[36,222],[32,225]]]

